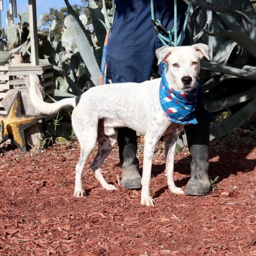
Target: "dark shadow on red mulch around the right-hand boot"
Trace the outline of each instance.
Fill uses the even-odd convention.
[[[214,185],[217,186],[223,179],[227,179],[230,175],[237,175],[238,172],[246,173],[254,171],[256,159],[247,159],[247,156],[255,146],[256,141],[254,141],[253,138],[246,137],[234,137],[233,141],[230,141],[229,138],[227,141],[225,141],[225,139],[211,141],[209,153],[209,178],[212,182],[217,178]],[[215,159],[217,159],[217,161]],[[190,179],[191,161],[192,157],[190,154],[178,159],[178,161],[174,161],[174,172],[189,176],[175,181],[177,187],[186,187],[187,182]],[[164,170],[165,163],[153,164],[151,177],[157,177],[159,174],[163,173]],[[140,174],[142,174],[142,167],[140,168]],[[155,197],[161,196],[167,189],[167,186],[162,187],[156,191]]]

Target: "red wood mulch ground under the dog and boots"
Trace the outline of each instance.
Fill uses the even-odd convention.
[[[255,138],[256,139],[256,138]],[[207,196],[173,195],[164,177],[163,142],[153,164],[154,207],[140,205],[140,190],[118,185],[118,149],[103,174],[117,191],[106,191],[86,164],[87,196],[73,198],[76,141],[43,153],[0,151],[0,255],[256,255],[256,141],[233,136],[211,142]],[[141,146],[139,145],[139,148]],[[140,164],[142,153],[138,150]],[[186,188],[191,157],[175,156],[175,180]]]

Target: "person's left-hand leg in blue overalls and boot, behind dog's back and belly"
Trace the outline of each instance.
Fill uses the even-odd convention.
[[[117,6],[107,50],[108,74],[113,83],[140,83],[150,79],[155,58],[154,40],[151,39],[154,38],[154,31],[150,19],[150,1],[145,5],[141,3],[134,4],[132,9],[131,6],[123,6],[127,4],[123,2]],[[146,19],[149,22],[145,23]],[[117,142],[123,171],[121,186],[125,189],[141,188],[136,157],[137,132],[120,128]]]

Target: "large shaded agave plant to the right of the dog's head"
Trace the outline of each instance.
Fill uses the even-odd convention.
[[[249,0],[192,2],[191,43],[206,43],[212,49],[212,61],[202,62],[206,107],[215,115],[227,109],[232,113],[211,125],[211,137],[219,138],[255,112],[256,13]]]

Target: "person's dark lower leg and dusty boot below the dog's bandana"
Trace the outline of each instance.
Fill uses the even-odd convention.
[[[186,194],[204,196],[211,191],[208,176],[210,122],[197,118],[198,124],[185,125],[188,149],[192,156],[191,178],[186,186]]]

